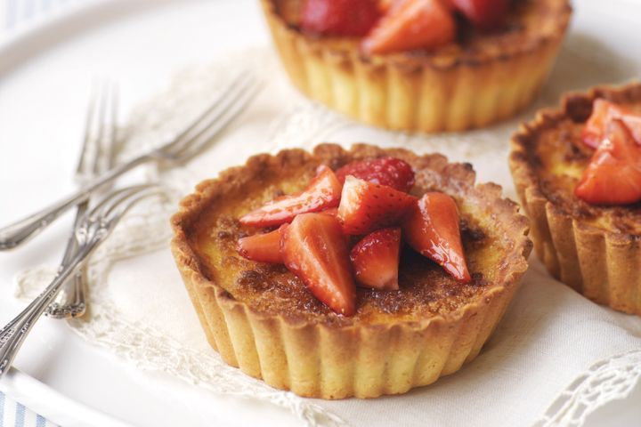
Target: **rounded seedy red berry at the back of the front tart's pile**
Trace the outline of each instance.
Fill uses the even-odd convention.
[[[361,180],[387,185],[399,191],[408,192],[414,185],[414,171],[400,158],[382,157],[349,163],[336,172],[338,181],[345,182],[345,176],[352,175]]]

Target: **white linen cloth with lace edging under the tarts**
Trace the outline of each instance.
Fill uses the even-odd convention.
[[[226,366],[211,350],[175,269],[167,241],[177,200],[203,179],[258,152],[311,149],[321,141],[367,141],[442,152],[475,165],[478,181],[515,197],[507,168],[516,125],[560,93],[629,78],[635,68],[601,66],[579,40],[561,53],[535,105],[506,123],[469,133],[411,136],[353,123],[298,95],[270,51],[239,52],[226,62],[185,70],[166,93],[134,112],[122,134],[126,152],[149,147],[189,123],[235,69],[249,64],[269,85],[205,154],[180,169],[149,168],[169,203],[130,214],[91,261],[90,313],[69,326],[87,341],[208,390],[288,407],[310,425],[580,425],[596,407],[629,393],[641,376],[641,318],[600,307],[550,278],[535,256],[521,291],[480,356],[458,373],[402,396],[322,401],[277,391]],[[583,69],[577,75],[575,70]],[[150,111],[152,112],[150,114]],[[36,294],[53,266],[20,273],[17,296]]]

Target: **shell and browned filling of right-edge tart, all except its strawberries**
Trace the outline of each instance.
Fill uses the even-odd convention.
[[[572,192],[592,153],[581,148],[580,129],[597,98],[641,111],[641,84],[571,93],[559,109],[540,111],[513,135],[510,169],[549,273],[594,302],[641,315],[641,205],[588,205]],[[537,150],[554,141],[556,160],[541,159]],[[548,163],[564,176],[541,174]]]

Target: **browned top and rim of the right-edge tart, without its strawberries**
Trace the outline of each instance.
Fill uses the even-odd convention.
[[[512,138],[510,161],[515,180],[525,181],[526,187],[588,226],[641,236],[641,203],[592,205],[574,194],[595,152],[583,143],[581,132],[598,98],[641,112],[641,84],[638,83],[565,96],[560,109],[540,112]]]

